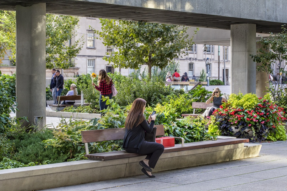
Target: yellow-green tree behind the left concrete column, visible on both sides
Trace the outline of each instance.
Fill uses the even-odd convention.
[[[16,55],[16,13],[0,11],[0,63],[7,51],[10,59]],[[74,30],[79,17],[46,14],[46,68],[68,68],[73,66],[71,58],[76,57],[83,47],[83,36],[74,43]],[[16,61],[16,60],[15,60]]]

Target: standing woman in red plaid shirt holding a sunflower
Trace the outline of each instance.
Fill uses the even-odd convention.
[[[108,106],[106,105],[106,101],[102,100],[102,96],[109,96],[109,98],[112,99],[112,78],[108,76],[106,70],[102,69],[99,72],[98,85],[96,85],[94,82],[92,84],[96,90],[100,91],[100,110],[107,109]],[[101,116],[103,116],[102,112]]]

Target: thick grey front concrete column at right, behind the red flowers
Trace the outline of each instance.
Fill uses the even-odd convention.
[[[256,24],[232,24],[230,93],[256,93]]]

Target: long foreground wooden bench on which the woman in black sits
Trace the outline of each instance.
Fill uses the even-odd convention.
[[[163,125],[155,125],[157,127],[156,135],[164,135],[164,126]],[[97,141],[111,141],[111,140],[119,140],[123,139],[125,135],[125,128],[115,128],[115,129],[103,129],[103,130],[88,130],[82,131],[82,142],[85,144],[86,155],[90,160],[111,160],[118,158],[129,158],[141,156],[137,153],[127,153],[125,150],[121,151],[112,151],[107,153],[94,153],[89,154],[88,143],[97,142]],[[226,138],[220,139],[216,141],[200,141],[193,143],[184,143],[183,138],[181,138],[181,144],[175,144],[174,147],[165,147],[164,153],[191,150],[191,149],[200,149],[207,147],[216,147],[223,146],[229,144],[239,144],[239,143],[247,143],[249,139],[235,139],[235,138]]]

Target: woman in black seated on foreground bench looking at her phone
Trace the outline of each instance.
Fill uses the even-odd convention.
[[[147,142],[144,140],[145,132],[152,132],[156,116],[149,115],[149,119],[146,121],[144,116],[145,107],[146,101],[142,98],[137,98],[132,103],[129,114],[126,117],[123,148],[128,153],[147,155],[143,161],[139,162],[143,167],[141,171],[149,178],[155,178],[151,174],[151,168],[155,168],[158,158],[164,152],[164,146],[156,142]]]

